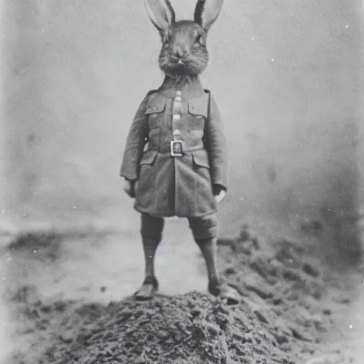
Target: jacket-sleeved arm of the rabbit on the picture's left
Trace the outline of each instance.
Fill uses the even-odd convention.
[[[127,136],[120,176],[129,181],[136,181],[139,176],[139,161],[148,137],[148,119],[145,111],[150,95],[151,92],[141,102]]]

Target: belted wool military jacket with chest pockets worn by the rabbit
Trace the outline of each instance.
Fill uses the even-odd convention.
[[[183,156],[173,157],[176,129]],[[228,189],[228,154],[210,91],[198,82],[148,92],[130,127],[120,176],[137,180],[134,208],[141,213],[186,218],[214,213],[213,185]]]

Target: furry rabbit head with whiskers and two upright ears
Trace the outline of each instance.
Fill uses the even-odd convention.
[[[208,65],[206,37],[223,0],[198,0],[194,20],[176,21],[168,0],[144,0],[151,22],[161,35],[159,67],[168,77],[197,77]]]

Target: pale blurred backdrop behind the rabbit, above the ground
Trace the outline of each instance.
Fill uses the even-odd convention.
[[[192,17],[194,0],[171,2],[178,18]],[[230,144],[221,234],[242,223],[277,234],[324,230],[323,240],[358,249],[360,7],[225,1],[201,77]],[[2,11],[3,235],[139,229],[119,167],[139,102],[163,80],[143,2],[14,0]]]

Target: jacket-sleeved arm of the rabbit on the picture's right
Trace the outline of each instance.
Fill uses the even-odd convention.
[[[228,190],[228,145],[218,105],[211,94],[205,123],[205,142],[210,159],[213,192],[217,196],[220,191]]]

